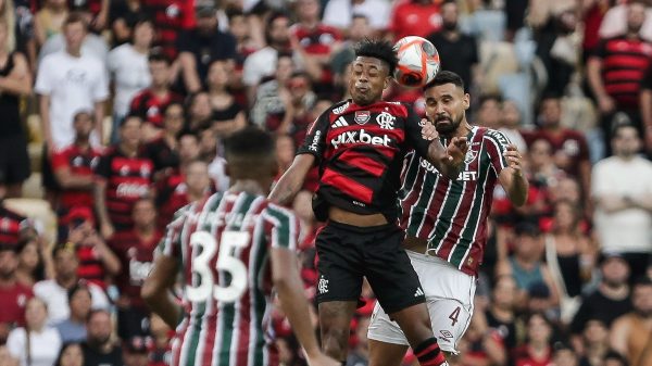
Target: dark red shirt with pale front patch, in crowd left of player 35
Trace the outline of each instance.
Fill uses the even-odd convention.
[[[163,235],[155,231],[149,239],[142,239],[135,230],[116,232],[109,240],[109,248],[117,255],[122,264],[122,270],[115,283],[121,295],[129,299],[133,307],[147,310],[140,288],[150,273],[154,262],[154,250]]]

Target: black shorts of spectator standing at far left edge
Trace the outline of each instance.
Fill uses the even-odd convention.
[[[0,138],[0,171],[9,185],[22,184],[32,174],[27,141],[23,135]]]

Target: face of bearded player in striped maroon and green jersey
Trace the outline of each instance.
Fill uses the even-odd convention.
[[[457,130],[465,111],[468,109],[468,94],[452,83],[428,88],[424,92],[426,116],[441,135],[452,135]]]

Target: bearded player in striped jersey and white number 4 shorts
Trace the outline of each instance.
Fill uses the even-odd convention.
[[[460,76],[440,72],[424,88],[426,116],[441,143],[466,137],[464,168],[456,179],[441,175],[412,153],[403,167],[399,191],[403,241],[421,280],[432,331],[442,351],[457,354],[473,315],[477,269],[487,237],[487,214],[499,181],[515,205],[527,200],[521,154],[507,138],[466,121],[469,96]],[[428,125],[430,126],[430,125]],[[368,328],[369,365],[399,366],[408,342],[399,326],[376,305]]]

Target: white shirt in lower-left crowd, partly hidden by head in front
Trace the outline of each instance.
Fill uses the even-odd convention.
[[[95,283],[87,283],[90,290],[92,310],[109,310],[109,298]],[[54,279],[46,279],[34,285],[34,294],[48,304],[48,324],[55,325],[67,319],[71,316],[71,308],[67,302],[67,290],[59,286]]]

